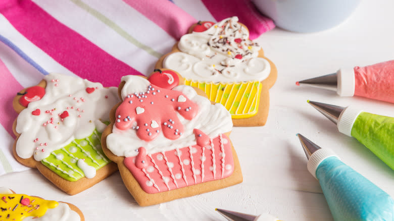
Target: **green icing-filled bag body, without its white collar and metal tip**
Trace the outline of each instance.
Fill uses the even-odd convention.
[[[361,112],[351,134],[394,170],[394,118]]]

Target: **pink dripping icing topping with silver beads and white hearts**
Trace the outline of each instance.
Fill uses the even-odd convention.
[[[171,140],[183,133],[177,114],[191,120],[198,105],[180,91],[149,85],[145,92],[127,95],[116,109],[115,126],[120,130],[135,129],[145,141],[154,140],[160,132]]]

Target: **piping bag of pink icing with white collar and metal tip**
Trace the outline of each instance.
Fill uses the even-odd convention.
[[[366,67],[343,68],[336,73],[295,84],[333,90],[340,96],[356,95],[394,103],[394,60]]]

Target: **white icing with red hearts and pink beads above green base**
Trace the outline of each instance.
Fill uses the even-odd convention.
[[[100,83],[62,74],[49,74],[44,80],[45,95],[23,109],[16,126],[21,134],[16,144],[18,156],[33,155],[37,161],[74,139],[88,137],[95,128],[103,131],[105,125],[96,120],[109,121],[111,108],[119,102],[116,87],[104,88]],[[87,93],[88,87],[94,91]],[[32,115],[37,108],[40,115]],[[69,116],[62,121],[64,111]]]

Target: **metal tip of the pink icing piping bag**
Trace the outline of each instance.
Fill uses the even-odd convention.
[[[295,82],[297,85],[308,85],[311,87],[323,88],[327,90],[337,91],[338,79],[337,74],[328,74],[316,78],[310,78],[303,81]]]

